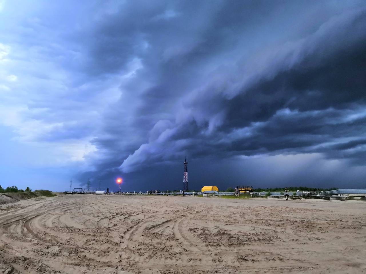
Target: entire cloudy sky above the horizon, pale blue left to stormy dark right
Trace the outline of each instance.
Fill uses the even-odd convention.
[[[364,1],[0,1],[1,186],[366,187]]]

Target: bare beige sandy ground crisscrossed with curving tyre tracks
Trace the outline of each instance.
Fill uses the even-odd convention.
[[[0,273],[366,273],[366,202],[67,195],[0,207]]]

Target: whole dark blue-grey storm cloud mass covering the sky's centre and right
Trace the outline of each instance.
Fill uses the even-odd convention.
[[[94,35],[91,74],[139,64],[105,114],[109,138],[93,141],[105,156],[95,174],[186,154],[364,156],[366,11],[356,2],[129,2]]]

